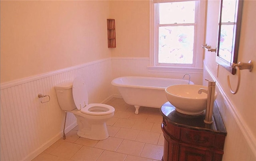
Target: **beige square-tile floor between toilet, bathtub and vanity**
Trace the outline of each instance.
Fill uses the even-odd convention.
[[[114,117],[107,124],[109,137],[90,140],[79,137],[76,126],[33,161],[160,161],[164,150],[159,108],[134,106],[121,98],[112,98]]]

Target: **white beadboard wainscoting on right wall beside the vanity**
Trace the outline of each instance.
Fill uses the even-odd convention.
[[[204,79],[214,80],[216,78],[204,62]],[[204,81],[204,86],[208,83]],[[228,100],[226,94],[216,81],[216,104],[220,111],[222,120],[227,130],[224,145],[223,161],[254,161],[256,160],[256,145],[253,135],[245,126],[244,121],[236,113],[234,106]]]

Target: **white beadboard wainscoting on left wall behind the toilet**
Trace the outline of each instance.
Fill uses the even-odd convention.
[[[0,160],[31,160],[62,137],[65,112],[60,109],[54,86],[82,77],[88,88],[89,103],[112,98],[111,59],[98,61],[1,84]],[[38,98],[38,94],[50,96]],[[67,114],[66,132],[76,126]]]

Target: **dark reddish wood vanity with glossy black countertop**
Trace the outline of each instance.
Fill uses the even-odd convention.
[[[205,124],[205,114],[181,114],[166,102],[160,108],[163,116],[164,155],[162,161],[221,161],[227,135],[216,104],[213,123]]]

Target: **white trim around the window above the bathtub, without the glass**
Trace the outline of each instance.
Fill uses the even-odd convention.
[[[167,2],[167,1],[166,1]],[[173,2],[172,0],[168,0],[168,2]],[[200,0],[199,3],[199,11],[198,11],[198,25],[197,25],[197,44],[196,44],[196,51],[197,54],[195,55],[196,58],[194,67],[170,67],[170,66],[156,66],[156,57],[155,57],[155,40],[156,40],[156,34],[155,34],[155,27],[156,27],[156,20],[155,20],[155,10],[154,10],[154,2],[153,0],[150,0],[150,66],[148,67],[149,71],[172,71],[172,72],[177,72],[180,73],[182,71],[190,71],[190,72],[196,72],[198,73],[199,71],[202,72],[202,67],[203,67],[203,49],[201,47],[202,44],[204,44],[204,33],[205,33],[205,17],[206,17],[206,1],[205,0]],[[199,72],[199,73],[201,73]]]

